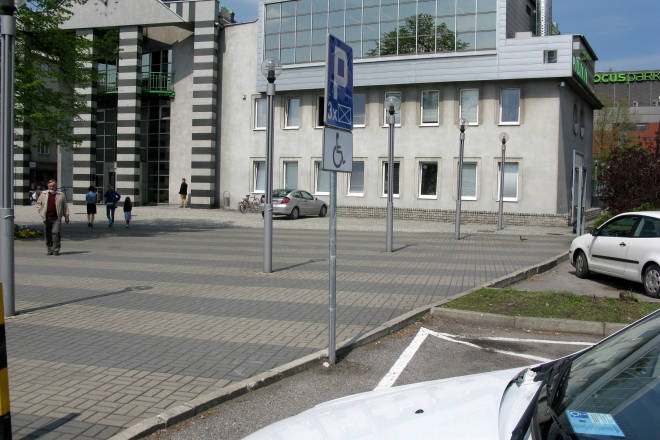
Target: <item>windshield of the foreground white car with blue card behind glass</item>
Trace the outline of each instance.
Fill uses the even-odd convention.
[[[640,321],[573,359],[557,398],[556,417],[542,417],[540,437],[658,438],[660,432],[660,314]],[[552,392],[550,394],[553,394]]]

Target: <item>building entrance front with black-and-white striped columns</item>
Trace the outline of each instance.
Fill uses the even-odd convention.
[[[16,150],[15,203],[57,175],[74,204],[90,186],[102,203],[108,185],[136,206],[175,204],[185,178],[189,206],[218,207],[218,46],[233,14],[215,0],[89,2],[72,12],[64,28],[84,38],[118,32],[120,58],[90,66],[99,82],[77,89],[92,109],[73,122],[80,148]],[[53,170],[31,172],[35,164]]]

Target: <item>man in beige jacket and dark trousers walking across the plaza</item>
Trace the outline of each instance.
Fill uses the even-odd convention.
[[[60,254],[62,240],[62,217],[69,224],[69,205],[64,194],[57,190],[57,182],[54,179],[48,181],[48,191],[41,193],[36,207],[46,230],[46,255],[57,256]]]

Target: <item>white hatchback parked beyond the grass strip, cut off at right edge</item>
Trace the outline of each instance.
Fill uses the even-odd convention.
[[[568,256],[579,278],[596,272],[641,282],[647,295],[658,298],[660,211],[619,214],[573,240]]]

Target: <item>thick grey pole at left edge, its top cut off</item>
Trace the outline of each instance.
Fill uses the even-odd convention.
[[[25,3],[19,0],[18,6]],[[14,0],[0,0],[0,283],[6,316],[14,306]]]

